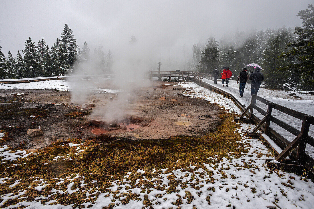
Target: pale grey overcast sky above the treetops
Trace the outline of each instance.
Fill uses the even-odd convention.
[[[236,29],[278,28],[301,25],[297,13],[311,0],[249,1],[7,1],[0,0],[0,46],[8,56],[24,49],[31,37],[45,38],[49,47],[60,37],[64,24],[77,44],[91,51],[99,43],[111,51],[132,35],[147,45],[191,47],[209,36],[217,40]]]

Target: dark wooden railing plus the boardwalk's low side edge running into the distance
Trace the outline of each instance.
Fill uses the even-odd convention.
[[[309,169],[314,174],[314,159],[306,154],[305,147],[308,143],[309,145],[314,145],[314,138],[312,136],[308,135],[308,129],[310,124],[314,125],[314,117],[310,115],[306,115],[304,113],[298,112],[296,110],[292,110],[290,108],[284,107],[282,105],[273,103],[267,99],[264,99],[263,97],[256,96],[255,98],[264,104],[268,105],[267,111],[263,110],[262,108],[258,107],[257,105],[251,104],[246,107],[243,104],[240,103],[240,101],[229,92],[226,92],[220,88],[217,88],[215,86],[212,86],[206,82],[198,82],[201,86],[208,88],[214,92],[220,93],[225,95],[226,97],[232,99],[244,112],[241,115],[243,118],[244,115],[248,115],[249,118],[254,121],[258,127],[258,129],[261,129],[264,131],[268,137],[270,137],[273,142],[277,146],[279,146],[282,150],[284,150],[284,154],[288,154],[291,159],[295,159],[297,163],[302,164],[305,168]],[[254,99],[253,95],[253,99]],[[286,113],[288,115],[291,115],[297,119],[302,120],[302,128],[301,130],[297,130],[296,128],[290,126],[289,124],[285,123],[284,121],[280,121],[279,119],[275,118],[271,115],[272,109],[279,110],[283,113]],[[268,115],[268,117],[264,117],[262,120],[257,117],[257,115],[253,114],[253,109],[257,110],[259,113],[261,113],[263,116]],[[251,111],[250,111],[251,110]],[[270,122],[274,122],[278,126],[284,128],[285,130],[289,131],[293,135],[297,136],[297,140],[294,140],[290,142],[286,138],[284,138],[281,134],[279,134],[277,131],[275,131],[273,128],[269,127]],[[270,147],[273,147],[272,144],[268,143]],[[293,145],[293,146],[291,146]],[[297,146],[299,146],[297,149],[295,149]],[[288,148],[287,148],[288,147]],[[290,148],[289,148],[290,147]],[[313,146],[314,147],[314,146]],[[285,150],[287,149],[287,150]],[[277,151],[275,151],[277,152]],[[284,155],[280,155],[281,153],[278,153],[277,160],[282,161],[284,160]],[[287,155],[287,156],[288,156]]]

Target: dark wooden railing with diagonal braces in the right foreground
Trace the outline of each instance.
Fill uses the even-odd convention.
[[[267,105],[267,111],[257,106],[255,104],[255,99]],[[266,135],[272,136],[274,142],[283,149],[281,153],[278,153],[278,156],[276,157],[277,161],[283,162],[285,158],[290,155],[290,157],[293,158],[297,164],[308,165],[306,167],[308,167],[313,172],[314,160],[305,153],[305,148],[306,144],[314,147],[314,138],[308,135],[310,125],[314,125],[314,117],[273,103],[267,99],[253,94],[251,104],[244,110],[239,119],[243,119],[245,115],[248,115],[249,119],[252,119],[254,109],[261,113],[264,117],[258,122],[257,126],[252,130],[251,134],[255,134],[259,129],[263,128],[262,130],[264,133]],[[280,121],[279,119],[272,116],[273,109],[302,120],[301,130],[298,130],[284,121]],[[295,139],[292,142],[285,139],[278,132],[269,127],[270,122],[274,122],[284,130],[289,131],[291,134],[295,135]],[[296,148],[297,150],[295,150]]]

